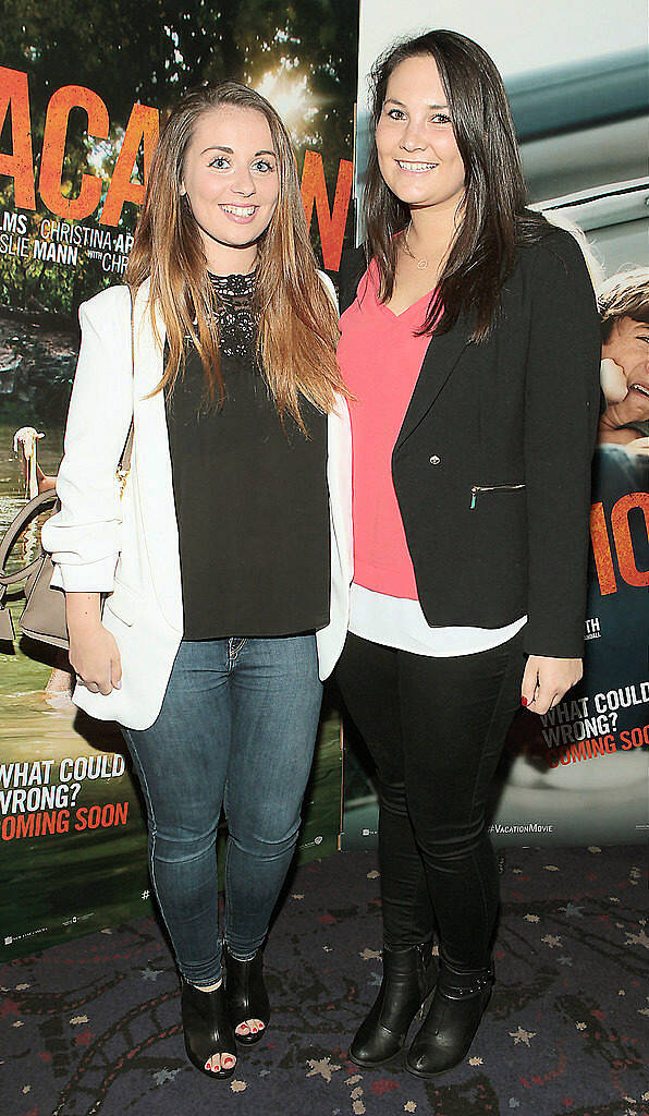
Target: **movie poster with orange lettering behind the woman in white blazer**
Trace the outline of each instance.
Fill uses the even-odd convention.
[[[161,121],[186,89],[236,78],[294,141],[322,266],[351,232],[357,9],[252,0],[26,9],[0,28],[0,532],[47,485],[78,350],[79,304],[122,282]],[[349,215],[349,221],[348,221]],[[51,483],[51,480],[49,481]],[[13,568],[37,552],[37,526]],[[9,594],[14,623],[20,612]],[[116,725],[69,701],[64,653],[0,643],[0,950],[12,958],[151,910],[143,809]],[[182,749],[178,749],[182,762]],[[340,716],[326,695],[302,857],[337,847]]]

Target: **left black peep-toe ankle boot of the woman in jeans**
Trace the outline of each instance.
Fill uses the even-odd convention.
[[[192,1065],[215,1080],[232,1077],[235,1062],[229,1069],[220,1069],[216,1074],[205,1069],[205,1062],[213,1055],[229,1054],[236,1058],[236,1042],[223,982],[213,992],[203,992],[181,978],[181,1003],[185,1050]]]

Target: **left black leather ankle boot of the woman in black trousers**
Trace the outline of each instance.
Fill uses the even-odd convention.
[[[381,1066],[403,1050],[408,1029],[435,983],[430,943],[384,950],[384,979],[349,1048],[357,1066]]]

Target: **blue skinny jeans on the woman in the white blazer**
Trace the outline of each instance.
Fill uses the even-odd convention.
[[[222,971],[221,811],[224,936],[248,959],[298,839],[321,698],[313,635],[183,642],[156,721],[123,728],[146,801],[153,887],[178,969],[195,984]]]

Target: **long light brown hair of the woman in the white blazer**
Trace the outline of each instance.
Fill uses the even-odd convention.
[[[203,363],[206,393],[224,398],[215,296],[198,227],[181,198],[183,164],[198,118],[210,108],[234,105],[261,113],[269,123],[278,161],[279,200],[259,242],[253,308],[259,315],[260,364],[280,417],[288,412],[304,430],[300,395],[318,410],[345,393],[336,363],[336,309],[317,271],[309,241],[296,160],[289,134],[264,97],[238,81],[205,85],[171,113],[156,147],[126,281],[133,296],[151,278],[149,312],[166,329],[168,358],[157,391],[173,389],[191,338]]]

